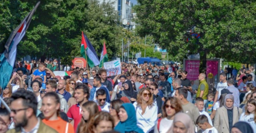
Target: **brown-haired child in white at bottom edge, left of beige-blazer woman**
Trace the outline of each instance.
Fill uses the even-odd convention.
[[[208,118],[205,115],[199,115],[196,124],[201,128],[202,133],[218,133],[218,130],[208,123]]]

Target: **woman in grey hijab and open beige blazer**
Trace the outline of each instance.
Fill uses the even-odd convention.
[[[227,94],[224,99],[224,106],[216,111],[214,127],[218,132],[231,132],[232,126],[238,122],[242,109],[234,107],[234,96]]]

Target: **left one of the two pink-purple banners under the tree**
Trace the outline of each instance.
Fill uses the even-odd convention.
[[[188,72],[187,79],[197,80],[199,76],[200,60],[185,60],[185,71]]]

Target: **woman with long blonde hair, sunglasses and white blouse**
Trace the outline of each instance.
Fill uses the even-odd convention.
[[[145,133],[154,132],[157,122],[157,105],[149,88],[142,88],[139,91],[138,99],[133,105],[136,110],[137,126]]]

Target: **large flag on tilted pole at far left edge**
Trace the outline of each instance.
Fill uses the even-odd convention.
[[[0,86],[5,89],[7,86],[11,73],[13,72],[13,67],[15,64],[15,58],[17,54],[17,45],[20,43],[24,37],[26,30],[29,27],[31,18],[36,11],[40,2],[37,2],[34,9],[22,20],[21,24],[11,32],[5,44],[5,52],[0,56]]]

